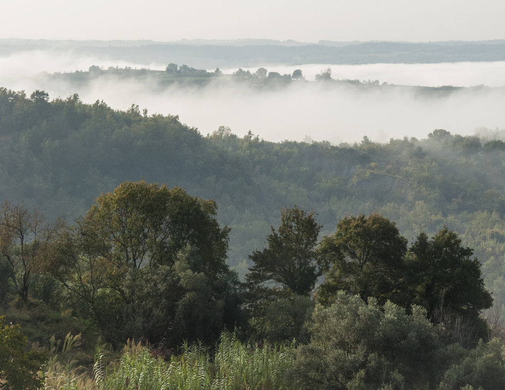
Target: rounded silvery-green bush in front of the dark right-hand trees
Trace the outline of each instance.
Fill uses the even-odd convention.
[[[340,291],[316,307],[309,329],[310,343],[295,354],[296,388],[421,389],[436,380],[441,345],[420,307],[408,315]]]

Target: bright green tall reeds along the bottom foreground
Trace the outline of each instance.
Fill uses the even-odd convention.
[[[141,344],[128,343],[116,364],[107,365],[97,352],[93,377],[86,380],[60,367],[46,373],[46,390],[282,390],[284,375],[291,366],[284,346],[251,347],[234,334],[221,335],[214,356],[201,344],[185,345],[169,362],[153,356]],[[51,372],[48,386],[47,375]]]

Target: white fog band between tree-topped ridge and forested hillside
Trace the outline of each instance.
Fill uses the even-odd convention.
[[[50,99],[78,93],[84,103],[104,101],[114,109],[131,104],[148,114],[178,115],[202,134],[219,126],[242,136],[251,130],[270,141],[360,141],[367,135],[386,142],[404,136],[425,138],[436,128],[472,135],[480,127],[505,128],[501,115],[505,88],[471,88],[445,97],[420,97],[396,88],[330,87],[321,83],[291,83],[287,88],[258,91],[244,85],[211,83],[205,87],[153,90],[136,81],[100,78],[77,88],[42,78],[18,79],[11,89],[44,89]]]

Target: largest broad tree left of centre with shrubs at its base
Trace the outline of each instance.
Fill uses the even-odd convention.
[[[229,228],[219,226],[216,209],[178,187],[124,182],[61,234],[44,269],[109,339],[177,344],[205,335],[196,329],[219,333],[225,322],[233,326],[227,315],[238,305],[238,280],[225,263]]]

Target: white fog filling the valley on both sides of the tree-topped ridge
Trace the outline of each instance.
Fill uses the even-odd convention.
[[[90,65],[164,69],[160,64],[106,62],[71,56],[54,58],[45,53],[16,54],[0,58],[0,86],[29,94],[44,89],[51,99],[78,93],[85,103],[103,100],[115,109],[136,104],[149,114],[179,115],[182,122],[207,134],[229,126],[239,136],[251,130],[261,138],[280,141],[313,140],[332,143],[359,141],[367,135],[385,142],[394,137],[426,137],[436,128],[462,135],[476,128],[505,128],[505,62],[371,65],[265,65],[281,74],[301,69],[307,80],[330,67],[334,79],[379,80],[382,84],[474,86],[442,97],[420,97],[412,90],[352,85],[328,87],[324,83],[291,83],[286,88],[259,91],[233,83],[213,83],[204,88],[171,87],[164,91],[137,82],[99,79],[78,88],[48,83],[38,73],[74,72]],[[187,64],[191,66],[191,64]],[[244,68],[245,69],[245,68]],[[257,69],[257,68],[256,68]],[[256,69],[250,69],[255,71]],[[236,69],[222,68],[233,73]],[[37,75],[38,74],[38,75]],[[502,87],[502,88],[496,88]]]

